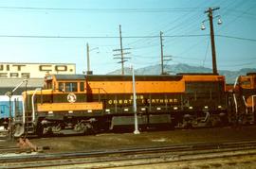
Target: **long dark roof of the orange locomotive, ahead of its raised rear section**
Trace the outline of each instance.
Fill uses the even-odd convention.
[[[92,81],[125,81],[132,80],[131,75],[121,76],[121,75],[52,75],[55,76],[57,80],[92,80]],[[136,80],[180,80],[182,76],[136,76]]]

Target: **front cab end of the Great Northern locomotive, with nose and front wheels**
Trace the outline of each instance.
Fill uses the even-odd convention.
[[[86,101],[84,84],[83,75],[47,75],[43,89],[24,92],[26,118],[22,127],[27,134],[85,132],[92,128],[102,103]],[[16,136],[24,132],[22,127],[17,127]]]

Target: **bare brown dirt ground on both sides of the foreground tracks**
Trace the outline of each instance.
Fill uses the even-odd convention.
[[[29,141],[37,146],[47,146],[50,149],[44,153],[65,153],[80,151],[117,150],[131,147],[147,147],[170,144],[203,144],[217,142],[256,140],[256,126],[249,127],[217,127],[197,129],[175,129],[168,131],[144,131],[140,134],[101,133],[86,136],[62,136],[30,138]],[[4,144],[15,142],[0,140]],[[184,161],[139,165],[139,168],[255,168],[256,156],[234,157],[210,161]],[[60,166],[58,168],[84,168],[85,165]],[[121,167],[125,168],[125,167]],[[126,167],[128,168],[128,167]],[[130,167],[129,168],[137,168]]]

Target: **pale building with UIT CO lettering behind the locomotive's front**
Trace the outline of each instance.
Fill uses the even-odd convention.
[[[0,62],[0,95],[11,92],[25,78],[27,84],[22,84],[13,94],[43,87],[46,74],[76,74],[76,64]]]

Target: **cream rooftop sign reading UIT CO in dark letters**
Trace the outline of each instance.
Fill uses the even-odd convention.
[[[41,78],[49,74],[76,74],[74,63],[0,63],[0,78]]]

